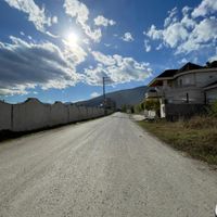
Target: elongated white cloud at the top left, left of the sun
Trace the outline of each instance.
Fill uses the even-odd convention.
[[[10,7],[28,14],[28,21],[33,22],[36,29],[44,33],[44,26],[51,26],[51,17],[48,17],[44,8],[39,8],[34,0],[4,0]]]

